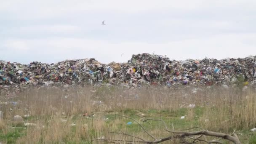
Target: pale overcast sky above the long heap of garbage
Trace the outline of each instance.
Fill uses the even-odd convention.
[[[255,0],[2,0],[0,59],[243,58],[256,55],[255,26]]]

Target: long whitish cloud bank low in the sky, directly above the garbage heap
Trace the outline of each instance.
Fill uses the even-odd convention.
[[[24,52],[32,56],[29,61],[38,59],[36,56],[45,53],[53,59],[42,59],[44,62],[76,58],[96,58],[109,63],[111,61],[125,62],[131,59],[132,54],[153,53],[167,55],[171,59],[203,59],[214,57],[224,59],[227,57],[245,57],[256,53],[256,35],[253,34],[228,34],[217,35],[210,38],[170,41],[166,43],[143,43],[136,41],[123,41],[111,43],[101,40],[87,40],[82,38],[40,39],[40,40],[8,40],[6,48]],[[13,45],[11,45],[13,44]],[[13,49],[12,49],[13,48]],[[19,49],[20,48],[20,49]],[[121,54],[124,53],[123,56]],[[10,58],[9,58],[10,59]]]

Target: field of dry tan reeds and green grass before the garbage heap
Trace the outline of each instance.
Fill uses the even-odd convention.
[[[29,89],[15,96],[3,95],[0,101],[2,143],[91,144],[104,143],[93,141],[103,138],[138,140],[117,134],[122,132],[153,140],[133,120],[121,115],[134,118],[157,138],[173,134],[165,131],[160,121],[143,123],[141,117],[162,119],[174,131],[200,127],[232,134],[235,130],[242,144],[256,143],[256,134],[250,131],[256,127],[256,92],[253,88],[243,91],[217,86],[180,89],[41,88]],[[195,104],[195,107],[189,107],[189,104]],[[14,122],[15,115],[22,116],[23,122]],[[185,118],[181,119],[181,116]],[[131,125],[128,122],[132,122]],[[24,123],[36,125],[24,126]],[[212,141],[214,138],[205,136],[203,139]],[[164,143],[179,142],[176,139]]]

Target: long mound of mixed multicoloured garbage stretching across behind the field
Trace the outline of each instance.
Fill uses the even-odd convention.
[[[126,63],[102,64],[95,59],[76,59],[56,64],[28,65],[0,61],[0,89],[28,86],[117,85],[256,85],[256,56],[243,59],[170,60],[142,53]]]

